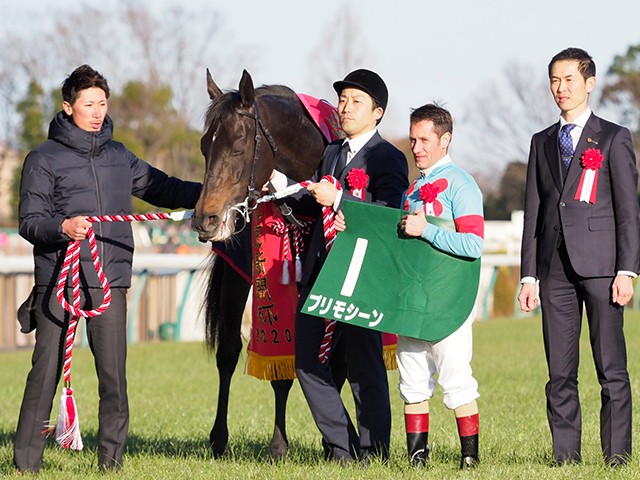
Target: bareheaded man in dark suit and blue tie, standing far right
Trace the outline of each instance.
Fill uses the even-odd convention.
[[[584,305],[602,387],[602,451],[607,463],[623,464],[631,455],[623,307],[633,296],[640,247],[636,158],[629,131],[589,109],[596,78],[587,52],[558,53],[549,78],[561,116],[531,141],[518,299],[524,311],[535,309],[539,281],[555,461],[581,459],[578,361]]]

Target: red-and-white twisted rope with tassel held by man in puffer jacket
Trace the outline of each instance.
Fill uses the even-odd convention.
[[[191,216],[191,211],[181,211],[172,213],[150,213],[146,215],[100,215],[94,217],[87,217],[87,221],[94,222],[132,222],[138,220],[183,220]],[[82,436],[80,435],[80,421],[78,419],[78,411],[76,402],[73,398],[73,389],[71,388],[71,357],[73,355],[73,340],[75,338],[76,327],[80,317],[91,318],[104,313],[111,304],[111,288],[109,287],[109,281],[107,280],[102,265],[100,264],[100,258],[98,257],[98,247],[96,242],[96,235],[92,227],[87,229],[87,238],[89,240],[89,248],[91,250],[91,258],[93,260],[93,266],[100,280],[102,291],[104,293],[104,300],[102,305],[94,310],[81,310],[80,309],[80,242],[81,240],[70,241],[67,247],[67,253],[64,257],[64,263],[60,270],[60,278],[58,280],[58,287],[56,289],[56,295],[58,302],[62,308],[71,313],[73,317],[69,321],[69,328],[67,329],[67,336],[65,341],[65,354],[64,354],[64,387],[62,388],[62,395],[60,397],[60,408],[58,413],[58,420],[54,425],[50,425],[42,433],[50,433],[55,437],[56,442],[62,448],[69,448],[72,450],[82,450]],[[73,286],[73,305],[70,305],[64,297],[64,289],[67,284],[67,278],[69,276],[69,269],[71,269],[71,282]]]

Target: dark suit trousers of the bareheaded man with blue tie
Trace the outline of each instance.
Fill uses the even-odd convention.
[[[623,332],[624,308],[611,302],[611,277],[583,278],[564,243],[549,277],[540,281],[542,326],[549,367],[547,416],[557,461],[580,460],[582,419],[578,363],[583,304],[601,386],[600,440],[607,460],[631,454],[631,386]]]

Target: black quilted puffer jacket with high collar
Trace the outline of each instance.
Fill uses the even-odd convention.
[[[27,155],[20,184],[20,235],[34,245],[36,285],[57,284],[70,240],[62,233],[67,218],[131,214],[131,195],[158,207],[195,206],[199,183],[168,177],[112,138],[108,116],[99,132],[87,132],[60,112],[49,126],[49,140]],[[129,287],[130,222],[94,223],[93,229],[110,285]],[[80,258],[81,286],[100,287],[86,240]]]

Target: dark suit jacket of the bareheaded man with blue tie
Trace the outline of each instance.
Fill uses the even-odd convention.
[[[559,122],[531,140],[522,237],[522,277],[544,280],[562,237],[571,266],[582,277],[638,272],[640,222],[638,170],[629,130],[591,115],[564,179],[558,147]],[[595,204],[574,197],[588,148],[604,155]]]

